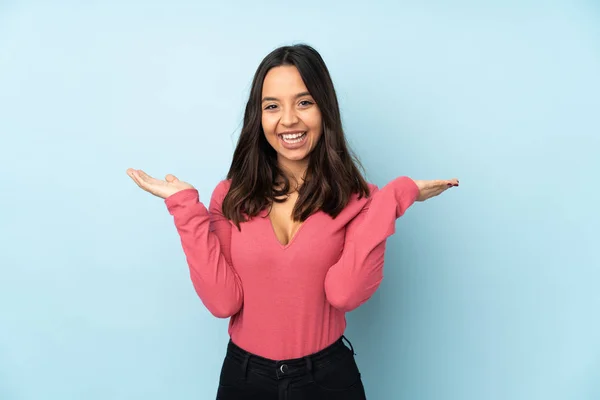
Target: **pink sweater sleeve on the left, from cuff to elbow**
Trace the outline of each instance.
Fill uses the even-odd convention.
[[[231,263],[231,223],[221,205],[228,182],[221,181],[211,197],[209,209],[196,189],[186,189],[165,199],[190,270],[196,293],[216,317],[227,318],[242,307],[242,283]]]

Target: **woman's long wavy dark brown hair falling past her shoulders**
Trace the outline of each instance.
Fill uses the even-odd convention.
[[[290,181],[277,163],[277,152],[262,128],[262,89],[274,67],[293,65],[319,107],[323,134],[310,153],[303,184],[298,188],[293,219],[305,221],[321,210],[335,218],[353,194],[369,196],[360,162],[351,152],[344,131],[337,95],[321,55],[311,46],[297,44],[273,50],[260,63],[250,89],[244,124],[233,153],[227,179],[230,189],[223,200],[223,215],[238,229],[272,202],[285,201]]]

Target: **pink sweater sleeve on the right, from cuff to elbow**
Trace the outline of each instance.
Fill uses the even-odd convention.
[[[348,312],[375,293],[383,279],[386,239],[418,195],[419,188],[406,176],[381,190],[373,188],[365,207],[348,223],[342,255],[325,277],[325,294],[333,307]]]

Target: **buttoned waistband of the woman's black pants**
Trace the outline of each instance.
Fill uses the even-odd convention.
[[[344,340],[348,342],[350,348],[344,344]],[[340,357],[346,356],[349,352],[355,354],[352,343],[344,335],[323,350],[305,357],[287,360],[271,360],[250,353],[233,343],[231,339],[227,345],[227,356],[241,362],[244,371],[252,369],[273,379],[291,378],[306,373],[311,374],[313,368],[329,364]]]

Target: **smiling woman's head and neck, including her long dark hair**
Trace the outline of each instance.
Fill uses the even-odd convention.
[[[369,194],[329,71],[312,47],[278,48],[258,66],[227,178],[223,213],[238,228],[266,207],[278,213],[283,203],[293,230],[294,221],[318,210],[335,217],[353,194]]]

